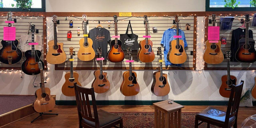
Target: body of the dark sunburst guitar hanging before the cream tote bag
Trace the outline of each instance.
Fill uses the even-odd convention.
[[[39,50],[35,50],[35,58],[31,56],[31,50],[24,53],[26,60],[21,64],[21,70],[27,75],[37,75],[40,73],[38,62],[41,61],[44,67],[43,60],[40,60],[42,53]]]

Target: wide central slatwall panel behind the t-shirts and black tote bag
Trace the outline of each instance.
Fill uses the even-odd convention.
[[[125,18],[125,17],[118,17],[118,19],[123,19],[123,18]],[[66,19],[66,17],[57,17],[57,20],[60,20],[60,24],[57,25],[58,26],[57,37],[58,37],[59,43],[60,42],[64,43],[64,51],[66,52],[67,58],[68,58],[69,57],[69,51],[68,51],[69,47],[74,47],[75,51],[79,50],[79,40],[81,38],[83,38],[83,24],[82,24],[83,21],[81,19],[76,19],[74,17],[68,17],[67,20],[65,20],[65,19]],[[89,30],[92,28],[95,28],[98,25],[98,20],[112,20],[110,28],[108,28],[107,21],[100,21],[100,24],[104,28],[106,28],[110,31],[111,37],[114,36],[115,25],[114,25],[113,17],[88,17],[87,19],[89,20],[89,24],[88,24]],[[69,24],[68,24],[69,20],[73,20],[73,23],[74,23],[73,28],[69,28]],[[92,21],[92,20],[94,20],[94,21]],[[117,25],[118,26],[118,35],[125,33],[129,20],[131,20],[133,33],[139,36],[138,41],[145,39],[142,37],[145,35],[145,27],[143,24],[143,18],[132,17],[127,20],[119,20],[118,25]],[[185,36],[186,36],[187,43],[188,43],[188,47],[185,49],[187,52],[188,58],[187,58],[187,61],[182,65],[182,68],[180,68],[180,69],[185,69],[187,67],[193,68],[193,55],[190,55],[190,51],[193,51],[194,17],[179,17],[179,20],[180,20],[180,23],[179,23],[180,29],[182,29],[185,32]],[[132,51],[133,60],[135,60],[133,63],[133,67],[135,67],[134,69],[156,69],[156,67],[159,66],[159,63],[158,63],[159,56],[156,55],[157,47],[161,46],[160,43],[161,43],[161,39],[162,39],[164,31],[173,25],[173,19],[167,18],[167,17],[148,17],[148,22],[149,22],[148,23],[148,26],[149,26],[148,34],[151,36],[151,38],[149,38],[149,39],[153,41],[153,51],[155,52],[155,60],[152,63],[142,63],[142,62],[138,61],[138,59],[137,59],[137,52],[139,50]],[[185,30],[186,23],[191,24],[190,30]],[[80,36],[77,35],[78,27],[80,27]],[[158,32],[153,33],[152,27],[157,27]],[[67,31],[69,31],[69,30],[71,30],[71,32],[72,32],[71,40],[67,39]],[[113,39],[113,38],[111,38],[111,39]],[[108,50],[109,49],[110,49],[110,47],[108,45]],[[164,47],[162,47],[162,51],[164,51]],[[126,50],[124,50],[124,52],[125,52],[125,54],[127,53]],[[103,67],[107,67],[106,69],[120,69],[120,67],[123,67],[121,69],[125,69],[124,67],[126,67],[126,69],[128,69],[129,63],[125,62],[125,60],[127,60],[127,59],[129,59],[129,56],[126,54],[123,62],[112,63],[110,61],[107,61],[104,63],[105,66],[103,66]],[[57,69],[57,70],[69,69],[68,68],[68,67],[70,67],[69,64],[70,63],[68,61],[66,61],[63,64],[56,65],[55,69]],[[77,58],[77,56],[75,56],[73,64],[74,64],[74,67],[87,67],[87,68],[83,68],[83,69],[94,69],[93,67],[99,67],[99,65],[95,59],[85,62],[85,61],[79,60]],[[165,63],[163,62],[163,65],[164,64]],[[92,68],[88,68],[88,67],[92,67]],[[115,68],[113,68],[113,67],[115,67]],[[163,66],[163,67],[165,67],[165,66]],[[172,67],[176,67],[176,66],[172,66]]]

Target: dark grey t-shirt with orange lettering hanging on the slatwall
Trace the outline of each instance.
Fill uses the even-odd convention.
[[[104,60],[107,60],[108,42],[111,41],[109,31],[106,28],[92,28],[89,31],[89,38],[92,39],[92,48],[95,54],[99,54],[97,49],[100,47],[102,49],[102,57],[104,57]]]

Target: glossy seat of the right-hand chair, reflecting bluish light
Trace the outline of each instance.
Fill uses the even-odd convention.
[[[201,111],[200,113],[198,113],[197,116],[203,116],[205,118],[224,123],[225,117],[226,117],[226,112],[221,111],[216,108],[213,108],[213,107],[208,107],[208,108],[204,109],[203,111]],[[234,121],[235,119],[236,119],[236,116],[230,117],[228,123]]]

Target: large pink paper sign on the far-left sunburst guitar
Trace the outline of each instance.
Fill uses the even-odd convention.
[[[15,27],[4,27],[4,41],[16,40],[16,28]]]

